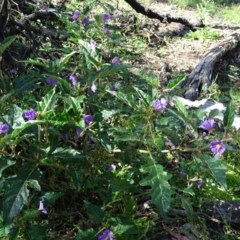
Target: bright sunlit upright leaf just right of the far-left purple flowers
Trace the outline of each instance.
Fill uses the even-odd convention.
[[[43,98],[42,101],[38,103],[38,108],[44,115],[48,111],[53,111],[56,107],[57,96],[55,94],[55,88],[51,89]]]

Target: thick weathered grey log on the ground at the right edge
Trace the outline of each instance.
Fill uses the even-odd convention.
[[[196,100],[202,89],[207,89],[212,83],[212,72],[218,62],[227,52],[237,47],[240,41],[240,31],[235,32],[223,39],[207,52],[201,61],[196,65],[190,75],[182,83],[187,88],[184,97]]]

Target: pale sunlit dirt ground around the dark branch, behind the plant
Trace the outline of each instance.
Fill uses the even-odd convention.
[[[200,20],[200,14],[194,9],[182,9],[167,1],[152,1],[144,6],[161,15],[171,15],[186,18],[191,23]],[[161,23],[159,20],[149,19],[142,14],[134,13],[142,22],[142,33],[149,39],[149,48],[141,59],[134,62],[141,68],[152,70],[168,81],[169,75],[189,74],[200,59],[210,48],[224,37],[240,30],[240,26],[223,22],[223,19],[204,15],[204,24],[210,31],[217,33],[220,38],[187,39],[189,29],[180,23]]]

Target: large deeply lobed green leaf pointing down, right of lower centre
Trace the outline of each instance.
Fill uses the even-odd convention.
[[[160,164],[156,164],[154,159],[151,165],[142,166],[140,171],[148,175],[140,181],[140,185],[151,187],[152,201],[160,214],[164,215],[170,208],[172,190],[168,180],[171,176]]]

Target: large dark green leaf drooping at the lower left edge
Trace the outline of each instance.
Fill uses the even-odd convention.
[[[27,182],[35,179],[37,172],[36,166],[26,164],[19,170],[17,176],[7,179],[7,186],[3,195],[3,219],[5,224],[11,223],[12,219],[27,203],[29,196]]]

